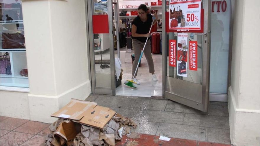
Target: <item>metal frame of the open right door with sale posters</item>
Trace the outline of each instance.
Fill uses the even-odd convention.
[[[203,37],[203,42],[205,42],[205,40],[207,41],[207,43],[203,43],[203,60],[202,60],[202,85],[200,84],[195,84],[195,83],[191,83],[188,81],[181,81],[179,79],[176,78],[171,78],[171,77],[167,77],[167,53],[166,53],[166,43],[168,43],[166,41],[167,37],[166,37],[166,29],[165,29],[165,25],[163,25],[163,35],[162,35],[162,39],[163,39],[163,96],[164,97],[168,97],[168,99],[170,100],[174,100],[176,102],[179,102],[181,104],[185,104],[187,106],[193,107],[195,109],[199,109],[201,111],[204,112],[208,112],[209,109],[209,65],[210,65],[210,14],[211,14],[211,2],[209,0],[202,0],[203,5],[202,8],[204,9],[204,33],[207,33],[207,37]],[[163,0],[163,6],[162,6],[162,12],[163,12],[163,22],[165,22],[165,12],[166,12],[166,0]],[[166,24],[167,25],[167,24]],[[168,82],[167,82],[168,81]],[[193,86],[196,88],[196,91],[202,91],[201,96],[202,96],[202,102],[198,102],[192,99],[188,99],[186,97],[177,95],[175,93],[171,93],[166,91],[166,84],[169,83],[169,86],[171,83],[173,83],[175,81],[182,83],[182,84],[193,84]],[[174,84],[174,83],[173,83]],[[184,85],[185,86],[185,85]],[[197,92],[198,93],[198,92]],[[194,93],[195,94],[195,93]],[[197,95],[197,96],[200,96]]]

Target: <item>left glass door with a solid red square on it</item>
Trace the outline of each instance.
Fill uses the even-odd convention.
[[[115,95],[113,1],[87,0],[93,94]]]

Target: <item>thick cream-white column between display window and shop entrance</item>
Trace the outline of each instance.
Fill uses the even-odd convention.
[[[23,0],[30,119],[90,94],[85,1]]]

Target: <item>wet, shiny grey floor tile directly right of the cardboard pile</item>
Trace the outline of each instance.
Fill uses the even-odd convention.
[[[134,129],[139,134],[155,135],[160,123],[157,122],[146,122],[146,121],[135,121],[137,128]]]

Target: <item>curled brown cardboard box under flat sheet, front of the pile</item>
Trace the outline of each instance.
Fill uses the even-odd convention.
[[[75,129],[75,123],[72,121],[62,122],[56,132],[54,132],[54,137],[60,145],[64,145],[67,141],[74,140],[77,135]],[[60,141],[58,141],[60,139]],[[56,145],[59,145],[56,144]]]

